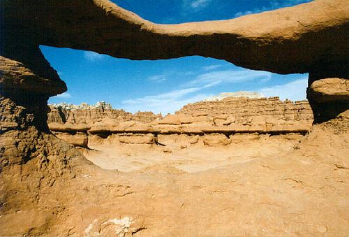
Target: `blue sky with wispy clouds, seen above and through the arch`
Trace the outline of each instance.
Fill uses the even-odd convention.
[[[175,24],[225,20],[309,0],[113,0],[146,20]],[[173,113],[186,103],[221,92],[255,91],[265,96],[302,100],[307,74],[278,75],[243,69],[223,60],[183,57],[157,61],[115,59],[95,52],[40,46],[66,82],[68,91],[49,103],[97,101],[130,112]]]

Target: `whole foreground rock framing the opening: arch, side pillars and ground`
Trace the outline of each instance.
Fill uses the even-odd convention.
[[[106,0],[0,7],[0,236],[348,235],[349,1],[172,25]],[[198,173],[108,171],[48,129],[47,99],[66,85],[38,45],[309,73],[314,124],[278,157]]]

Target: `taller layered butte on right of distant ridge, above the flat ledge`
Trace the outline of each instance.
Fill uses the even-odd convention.
[[[189,103],[176,112],[177,114],[195,116],[207,115],[208,121],[216,125],[251,124],[256,117],[274,118],[285,121],[313,121],[313,113],[308,101],[280,101],[279,97],[262,99],[226,98],[221,101],[200,101]],[[264,122],[263,122],[264,123]]]

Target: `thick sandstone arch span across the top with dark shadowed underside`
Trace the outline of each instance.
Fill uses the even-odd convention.
[[[346,0],[316,0],[234,20],[177,25],[148,22],[105,0],[2,1],[1,15],[2,93],[21,89],[52,96],[66,90],[38,45],[129,59],[215,57],[248,69],[310,73],[309,85],[322,78],[349,78]],[[309,95],[315,121],[322,121],[326,109],[316,111],[318,101]]]

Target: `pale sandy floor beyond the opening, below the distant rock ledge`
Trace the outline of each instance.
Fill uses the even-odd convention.
[[[159,168],[165,171],[176,168],[187,173],[206,171],[220,166],[241,164],[266,157],[279,157],[290,152],[303,138],[299,134],[288,135],[240,135],[228,145],[204,145],[188,143],[188,138],[170,135],[163,145],[125,144],[107,138],[94,139],[87,149],[80,149],[87,159],[105,169],[121,172]]]

